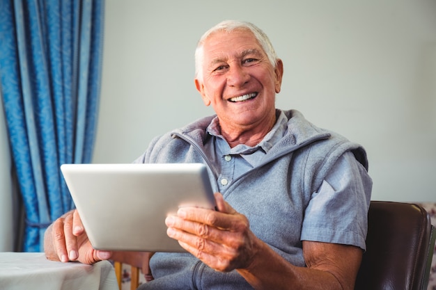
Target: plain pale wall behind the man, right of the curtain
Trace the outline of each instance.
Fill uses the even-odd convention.
[[[279,108],[368,150],[373,200],[436,201],[436,1],[107,0],[93,162],[128,163],[203,115],[194,48],[254,22],[285,65]]]

